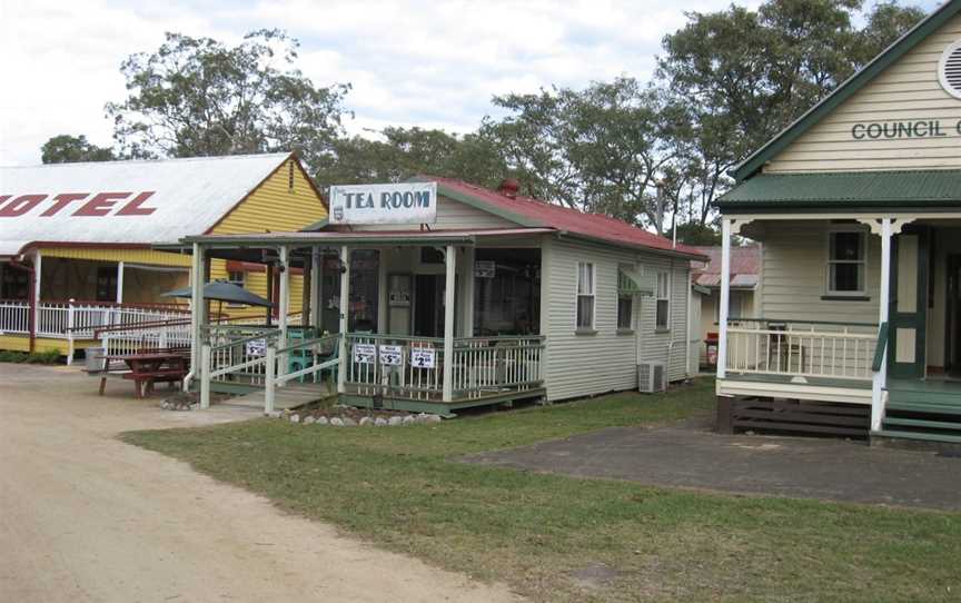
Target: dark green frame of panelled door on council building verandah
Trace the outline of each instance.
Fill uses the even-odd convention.
[[[901,237],[918,237],[918,286],[915,295],[917,304],[914,312],[898,312],[898,266]],[[891,240],[891,284],[890,284],[890,309],[888,323],[890,326],[888,347],[888,375],[895,379],[920,379],[924,377],[928,346],[928,254],[929,254],[929,229],[925,227],[905,226],[902,234]],[[914,329],[914,362],[899,363],[898,356],[898,329]]]

